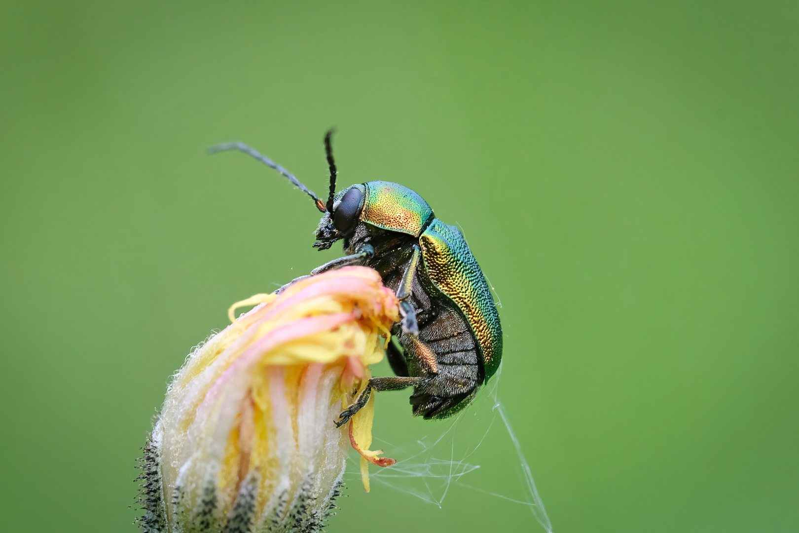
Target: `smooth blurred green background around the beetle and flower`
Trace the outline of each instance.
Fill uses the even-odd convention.
[[[136,531],[171,372],[340,255],[203,149],[322,192],[331,125],[463,227],[556,533],[799,531],[796,2],[5,1],[0,69],[3,531]],[[329,531],[541,531],[376,488]]]

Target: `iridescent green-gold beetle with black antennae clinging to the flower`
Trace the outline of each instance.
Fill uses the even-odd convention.
[[[313,247],[324,250],[343,241],[347,255],[314,268],[311,275],[365,265],[380,272],[400,300],[401,320],[394,324],[386,348],[396,376],[372,377],[336,426],[364,407],[372,390],[413,387],[410,403],[415,416],[428,420],[452,416],[471,404],[502,358],[502,326],[485,276],[459,229],[439,221],[411,189],[390,181],[367,181],[336,193],[332,133],[324,136],[330,170],[327,201],[248,145],[229,142],[209,153],[233,149],[247,153],[312,198],[324,213]]]

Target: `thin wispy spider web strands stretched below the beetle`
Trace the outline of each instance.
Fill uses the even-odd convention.
[[[370,469],[372,483],[438,507],[445,505],[452,487],[463,487],[527,507],[551,533],[552,524],[530,466],[499,400],[501,374],[502,366],[471,406],[449,420],[435,421],[435,426],[428,426],[433,431],[422,438],[414,441],[415,436],[407,436],[407,442],[392,439],[389,443],[375,436],[372,447],[383,447],[385,455],[397,463]],[[509,469],[503,458],[512,456],[518,463]],[[359,457],[351,457],[348,464],[346,477],[353,482],[360,479]]]

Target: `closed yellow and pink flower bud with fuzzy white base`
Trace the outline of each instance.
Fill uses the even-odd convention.
[[[233,319],[237,307],[256,304]],[[144,448],[143,531],[319,531],[349,447],[368,463],[374,395],[336,420],[380,361],[398,302],[380,275],[346,267],[234,304],[233,324],[174,376]]]

